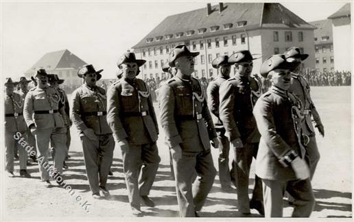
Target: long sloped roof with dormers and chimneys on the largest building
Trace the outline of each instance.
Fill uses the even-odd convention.
[[[167,16],[132,48],[189,41],[260,28],[315,29],[314,26],[287,10],[280,3],[222,3],[222,6],[221,12],[219,3],[211,6],[209,14],[207,7]],[[232,24],[232,27],[224,29],[226,24]],[[215,26],[218,26],[219,29],[212,32],[211,27]],[[206,32],[198,34],[198,29],[201,28],[205,28]],[[194,33],[187,36],[188,31]],[[183,32],[183,35],[176,38],[176,34],[179,32]],[[167,34],[172,34],[173,37],[166,39]],[[160,40],[158,40],[158,36],[160,36]],[[148,38],[153,40],[147,43]]]

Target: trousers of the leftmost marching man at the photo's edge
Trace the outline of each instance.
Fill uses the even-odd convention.
[[[14,139],[16,132],[9,132],[5,130],[5,170],[14,172],[14,148],[17,147],[19,152],[20,170],[27,169],[27,152],[25,147],[21,146],[18,141]],[[25,133],[21,133],[25,136]],[[25,142],[27,137],[25,136]]]

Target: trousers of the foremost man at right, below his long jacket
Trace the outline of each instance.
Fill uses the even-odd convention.
[[[262,179],[265,217],[283,217],[283,196],[285,190],[294,197],[292,217],[309,217],[314,210],[315,197],[311,181],[279,181]]]

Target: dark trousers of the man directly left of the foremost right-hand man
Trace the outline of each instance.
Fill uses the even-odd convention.
[[[250,199],[248,197],[248,184],[250,177],[250,166],[252,157],[257,158],[259,143],[246,143],[241,148],[235,148],[231,145],[235,153],[234,161],[236,165],[235,178],[237,184],[237,206],[239,212],[243,214],[250,213]],[[262,181],[255,175],[255,187],[252,192],[252,199],[255,201],[263,201],[262,197]]]

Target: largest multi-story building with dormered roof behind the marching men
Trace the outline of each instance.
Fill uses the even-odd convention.
[[[248,49],[255,58],[254,72],[264,59],[297,46],[309,54],[305,67],[315,68],[314,29],[280,3],[219,3],[168,16],[132,48],[147,60],[141,78],[162,77],[161,65],[178,44],[199,51],[195,76],[217,75],[211,61],[222,54]]]

